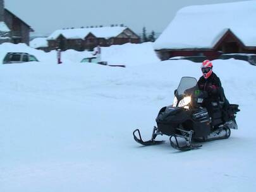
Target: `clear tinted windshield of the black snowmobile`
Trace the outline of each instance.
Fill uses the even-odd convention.
[[[176,96],[180,97],[189,92],[189,90],[197,89],[197,79],[189,76],[183,76],[180,80],[180,85],[177,88]]]

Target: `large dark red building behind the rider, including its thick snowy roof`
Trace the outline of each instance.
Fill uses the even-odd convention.
[[[256,6],[254,1],[189,6],[154,43],[160,59],[175,56],[256,54]]]

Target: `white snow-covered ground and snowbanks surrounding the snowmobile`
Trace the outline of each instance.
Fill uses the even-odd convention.
[[[182,76],[200,77],[200,64],[159,61],[154,52],[143,53],[145,46],[132,61],[116,56],[126,68],[82,64],[83,56],[72,51],[58,65],[54,52],[22,46],[15,49],[34,52],[42,62],[0,65],[0,191],[256,188],[256,66],[214,61],[229,102],[240,105],[238,130],[228,140],[178,152],[165,136],[159,136],[163,145],[142,147],[132,131],[140,128],[150,138],[159,109],[172,104]],[[13,49],[2,45],[0,57]]]

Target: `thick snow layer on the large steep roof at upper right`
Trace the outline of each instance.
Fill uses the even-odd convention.
[[[209,49],[228,29],[246,46],[256,46],[256,1],[180,9],[154,49]]]

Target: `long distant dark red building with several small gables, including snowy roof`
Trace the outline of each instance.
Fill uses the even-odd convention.
[[[128,42],[140,43],[140,37],[127,27],[71,28],[56,30],[48,38],[48,51],[59,47],[65,51],[92,51],[97,45],[108,47]]]

